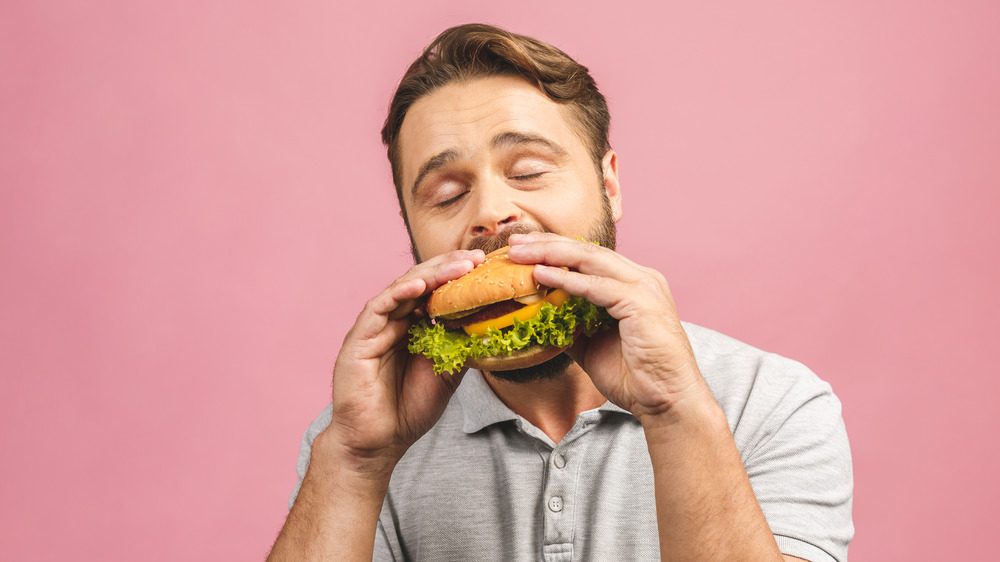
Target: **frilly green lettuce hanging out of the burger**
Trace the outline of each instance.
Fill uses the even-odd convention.
[[[514,325],[498,330],[490,328],[481,336],[464,331],[448,331],[440,323],[421,320],[410,327],[413,354],[423,354],[434,362],[434,373],[455,373],[467,359],[510,355],[533,344],[566,347],[573,345],[578,330],[592,336],[609,319],[607,311],[582,297],[571,296],[556,308],[544,303],[533,318],[514,320]]]

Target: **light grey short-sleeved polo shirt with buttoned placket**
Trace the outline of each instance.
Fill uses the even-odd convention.
[[[851,457],[830,386],[789,359],[684,328],[781,551],[846,560]],[[327,407],[303,437],[299,484],[329,423]],[[659,552],[653,469],[635,417],[608,402],[553,443],[478,371],[396,466],[375,538],[376,560],[657,560]]]

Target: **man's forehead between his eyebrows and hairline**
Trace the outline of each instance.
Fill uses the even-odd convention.
[[[493,76],[443,86],[420,98],[399,131],[403,185],[412,184],[420,165],[444,150],[482,155],[504,132],[543,136],[571,153],[585,151],[570,110],[527,80]]]

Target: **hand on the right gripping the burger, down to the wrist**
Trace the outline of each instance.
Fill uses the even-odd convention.
[[[569,351],[608,400],[641,421],[689,397],[704,398],[708,387],[658,271],[555,234],[514,235],[510,245],[511,260],[538,264],[536,281],[604,307],[617,320]]]

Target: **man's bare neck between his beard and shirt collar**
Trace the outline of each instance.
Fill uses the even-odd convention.
[[[607,401],[576,363],[562,375],[529,383],[508,382],[489,374],[483,378],[508,408],[541,429],[553,443],[566,436],[578,414]]]

